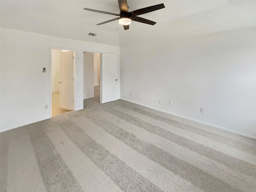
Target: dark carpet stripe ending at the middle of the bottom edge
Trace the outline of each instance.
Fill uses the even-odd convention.
[[[89,137],[82,128],[71,121],[60,122],[60,127],[83,152],[92,160],[116,185],[125,192],[160,192],[157,186],[142,177],[138,172],[113,156],[103,146]]]

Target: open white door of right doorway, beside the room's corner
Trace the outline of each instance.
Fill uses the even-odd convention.
[[[100,103],[116,101],[118,99],[118,81],[117,79],[117,55],[102,53],[100,57]]]

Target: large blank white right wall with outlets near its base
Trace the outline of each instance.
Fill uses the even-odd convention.
[[[121,47],[120,63],[121,98],[256,137],[255,27]]]

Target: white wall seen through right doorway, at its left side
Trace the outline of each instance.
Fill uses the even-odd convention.
[[[84,52],[84,99],[94,97],[94,53]]]

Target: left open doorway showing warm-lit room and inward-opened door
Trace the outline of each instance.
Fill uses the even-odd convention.
[[[74,51],[51,49],[52,117],[74,110]]]

